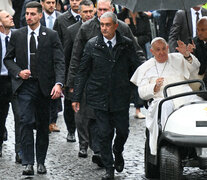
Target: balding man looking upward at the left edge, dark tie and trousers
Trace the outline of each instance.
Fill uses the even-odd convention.
[[[13,32],[11,30],[12,27],[14,27],[12,16],[6,11],[0,11],[0,156],[2,156],[5,122],[8,115],[9,103],[11,102],[15,121],[16,162],[21,163],[18,107],[16,106],[16,96],[12,96],[11,77],[3,62],[11,33]]]

